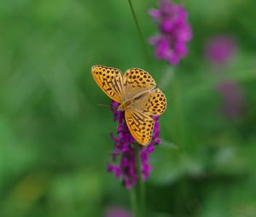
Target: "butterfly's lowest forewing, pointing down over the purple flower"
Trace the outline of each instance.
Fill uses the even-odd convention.
[[[125,121],[137,143],[147,146],[151,140],[151,134],[154,128],[153,118],[135,109],[126,109]]]

